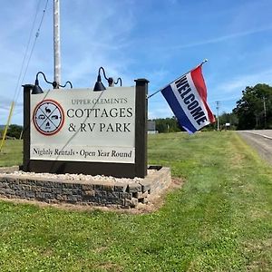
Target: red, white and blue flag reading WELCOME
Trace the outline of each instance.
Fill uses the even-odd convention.
[[[202,64],[180,76],[161,91],[180,126],[189,133],[215,122],[207,103],[207,89],[201,68]]]

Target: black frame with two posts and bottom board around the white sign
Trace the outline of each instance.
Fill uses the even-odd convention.
[[[30,160],[30,95],[34,85],[24,87],[24,144],[22,170],[55,174],[73,173],[105,175],[117,178],[144,178],[147,175],[147,110],[148,83],[137,79],[135,97],[135,163],[90,162],[67,160]],[[106,91],[105,91],[106,92]]]

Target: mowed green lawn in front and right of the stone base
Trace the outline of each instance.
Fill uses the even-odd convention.
[[[272,169],[236,132],[151,135],[149,162],[185,180],[152,213],[0,202],[0,271],[271,271]]]

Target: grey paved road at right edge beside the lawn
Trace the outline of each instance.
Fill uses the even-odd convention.
[[[272,164],[272,130],[238,131],[238,133],[263,159]]]

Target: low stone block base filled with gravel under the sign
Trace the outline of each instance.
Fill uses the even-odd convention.
[[[16,167],[0,168],[0,197],[38,200],[46,203],[135,208],[146,204],[162,189],[170,186],[170,168],[150,166],[152,170],[140,182],[108,180],[53,180],[8,173]]]

